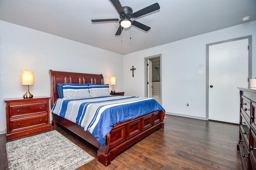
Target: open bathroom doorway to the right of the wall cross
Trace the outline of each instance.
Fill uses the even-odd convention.
[[[161,56],[145,58],[146,66],[146,97],[161,101]]]

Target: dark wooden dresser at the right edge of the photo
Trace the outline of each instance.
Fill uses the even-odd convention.
[[[240,128],[237,150],[244,170],[256,170],[256,88],[240,90]]]

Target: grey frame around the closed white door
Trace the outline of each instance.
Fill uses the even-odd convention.
[[[242,39],[248,39],[248,46],[249,46],[249,49],[248,49],[248,88],[249,88],[250,87],[249,80],[252,78],[252,35],[206,44],[206,120],[209,120],[209,46],[217,45],[217,44],[221,44],[221,43],[228,43],[231,41],[237,41],[237,40],[242,40]]]

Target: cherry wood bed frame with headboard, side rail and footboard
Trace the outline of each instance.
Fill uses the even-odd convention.
[[[102,74],[86,74],[53,70],[49,70],[49,73],[51,77],[51,108],[58,99],[58,83],[104,84]],[[90,132],[84,131],[84,128],[76,123],[64,119],[56,114],[52,114],[52,117],[54,127],[60,124],[97,147],[98,161],[105,166],[108,166],[111,164],[111,161],[114,160],[116,154],[136,143],[146,135],[152,133],[156,129],[164,128],[164,114],[164,111],[154,111],[147,115],[116,125],[107,135],[106,147],[100,145]]]

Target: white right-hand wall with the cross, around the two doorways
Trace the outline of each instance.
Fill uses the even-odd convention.
[[[205,119],[206,75],[198,75],[198,70],[206,70],[206,44],[247,35],[252,35],[252,77],[256,77],[256,21],[252,21],[124,55],[125,94],[144,96],[144,58],[161,54],[162,106],[166,112]],[[134,77],[132,66],[136,68]]]

